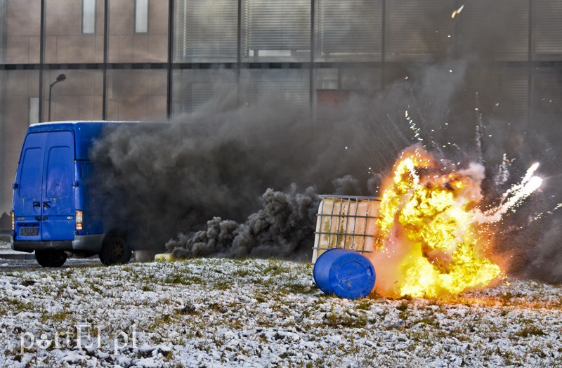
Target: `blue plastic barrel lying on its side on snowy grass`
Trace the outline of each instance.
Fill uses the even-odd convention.
[[[374,287],[374,267],[367,257],[349,249],[334,248],[322,253],[314,265],[314,282],[326,294],[358,299]]]

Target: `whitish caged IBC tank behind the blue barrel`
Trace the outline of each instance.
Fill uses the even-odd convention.
[[[367,256],[374,251],[379,197],[321,195],[312,264],[328,249],[343,248]]]

